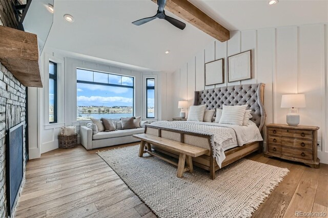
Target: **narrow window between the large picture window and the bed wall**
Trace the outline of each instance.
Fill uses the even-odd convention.
[[[146,79],[146,118],[155,118],[155,79]]]

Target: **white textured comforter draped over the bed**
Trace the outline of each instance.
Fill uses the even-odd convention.
[[[157,121],[151,123],[150,126],[211,135],[213,156],[220,168],[221,163],[224,159],[226,159],[226,155],[224,155],[224,148],[231,147],[233,144],[242,146],[243,144],[252,141],[263,140],[261,133],[255,124],[250,124],[248,126],[236,126],[208,122]]]

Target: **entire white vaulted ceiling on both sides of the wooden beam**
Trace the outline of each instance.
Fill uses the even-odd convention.
[[[190,2],[230,31],[328,21],[328,1],[324,0],[280,0],[273,6],[267,0]],[[155,15],[156,10],[157,5],[150,0],[55,0],[54,21],[46,46],[129,68],[172,72],[213,40],[189,23],[183,31],[160,19],[142,26],[132,25],[134,20]],[[65,21],[64,14],[71,14],[74,22]],[[170,54],[166,55],[166,50]]]

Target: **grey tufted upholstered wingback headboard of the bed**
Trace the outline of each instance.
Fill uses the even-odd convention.
[[[265,122],[263,106],[264,84],[236,85],[195,91],[194,105],[207,105],[207,110],[222,109],[222,105],[248,105],[251,120],[261,131]],[[214,114],[215,116],[215,114]]]

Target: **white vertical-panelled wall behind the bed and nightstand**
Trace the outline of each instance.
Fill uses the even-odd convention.
[[[299,109],[300,125],[320,127],[318,140],[323,146],[318,155],[322,162],[327,163],[327,24],[230,34],[229,41],[213,41],[170,76],[173,83],[172,116],[179,116],[179,100],[188,100],[190,106],[195,90],[214,88],[214,85],[204,86],[204,63],[224,58],[224,84],[215,87],[265,83],[267,124],[285,124],[288,109],[280,108],[282,94],[305,94],[306,108]],[[228,83],[227,58],[247,50],[252,50],[253,79]]]

